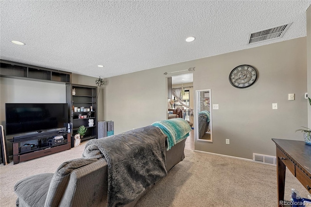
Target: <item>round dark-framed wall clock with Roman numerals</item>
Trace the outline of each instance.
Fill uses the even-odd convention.
[[[229,82],[237,88],[245,88],[252,86],[257,80],[257,70],[249,65],[241,65],[231,70],[229,74]]]

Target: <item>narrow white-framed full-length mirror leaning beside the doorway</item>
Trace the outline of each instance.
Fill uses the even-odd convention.
[[[211,114],[211,90],[196,90],[196,135],[197,140],[213,141],[212,114]]]

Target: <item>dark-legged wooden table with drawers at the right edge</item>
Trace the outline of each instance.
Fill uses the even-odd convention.
[[[276,143],[277,201],[282,207],[286,167],[311,193],[311,145],[304,141],[272,139]]]

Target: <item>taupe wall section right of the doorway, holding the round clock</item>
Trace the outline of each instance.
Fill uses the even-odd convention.
[[[295,130],[307,126],[306,63],[306,38],[200,61],[194,86],[211,88],[212,104],[219,104],[219,110],[212,113],[213,143],[196,142],[195,149],[251,159],[253,153],[275,155],[271,138],[303,140]],[[258,69],[259,78],[253,86],[238,89],[229,84],[228,75],[242,64]],[[288,101],[289,93],[295,101]],[[277,110],[272,103],[278,104]]]

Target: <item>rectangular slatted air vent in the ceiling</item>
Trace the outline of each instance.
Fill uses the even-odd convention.
[[[286,33],[292,23],[252,33],[248,37],[248,44],[281,38]]]

